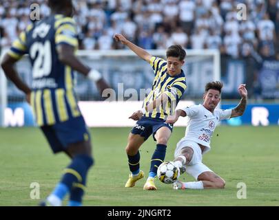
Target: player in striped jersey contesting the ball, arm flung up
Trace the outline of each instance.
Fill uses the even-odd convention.
[[[143,142],[153,134],[156,149],[151,159],[149,176],[144,190],[156,190],[155,177],[157,168],[165,159],[167,142],[172,134],[172,124],[165,122],[168,115],[172,115],[181,96],[186,89],[186,78],[182,66],[185,63],[185,50],[180,45],[167,48],[167,61],[150,55],[143,48],[134,45],[121,34],[115,34],[114,39],[130,48],[135,54],[147,61],[154,70],[152,91],[143,102],[143,109],[134,112],[130,118],[137,120],[132,129],[126,147],[131,174],[125,187],[135,186],[138,179],[143,178],[140,170],[140,153],[138,149]]]

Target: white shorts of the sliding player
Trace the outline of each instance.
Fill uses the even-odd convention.
[[[209,169],[205,164],[203,164],[203,156],[200,146],[196,142],[192,142],[189,140],[181,139],[180,142],[176,144],[176,150],[174,151],[174,158],[178,157],[181,153],[181,150],[185,147],[190,147],[193,149],[194,153],[191,161],[186,168],[186,173],[192,175],[196,180],[198,180],[198,176],[204,172],[213,172]]]

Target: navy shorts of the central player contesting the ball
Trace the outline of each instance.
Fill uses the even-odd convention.
[[[170,131],[172,131],[172,124],[166,123],[165,120],[161,118],[147,118],[143,116],[143,118],[136,122],[136,125],[132,129],[131,133],[134,135],[141,135],[142,137],[145,137],[145,140],[153,134],[153,139],[156,141],[156,131],[162,126],[166,126]]]

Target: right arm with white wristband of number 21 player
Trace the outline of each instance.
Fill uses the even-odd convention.
[[[65,65],[69,65],[72,69],[93,80],[101,94],[103,90],[110,88],[110,86],[107,85],[103,79],[102,75],[96,69],[86,67],[83,63],[81,63],[81,61],[79,61],[78,58],[76,58],[74,55],[74,47],[66,44],[60,44],[57,46],[57,52],[59,54],[59,61]]]

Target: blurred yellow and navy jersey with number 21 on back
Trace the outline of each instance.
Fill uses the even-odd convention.
[[[51,15],[21,32],[8,54],[19,59],[29,54],[32,64],[31,105],[39,126],[64,122],[81,115],[74,94],[72,68],[59,61],[56,46],[76,50],[76,23],[62,14]]]

